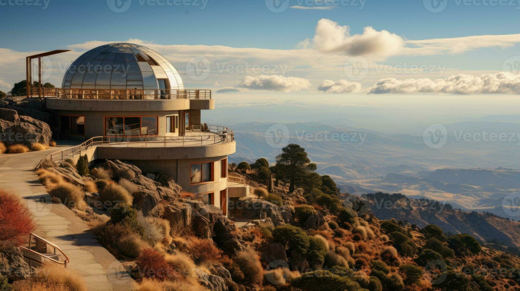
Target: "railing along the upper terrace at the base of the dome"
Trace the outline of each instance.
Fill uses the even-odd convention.
[[[31,88],[28,97],[99,100],[211,99],[206,89],[63,89]]]

